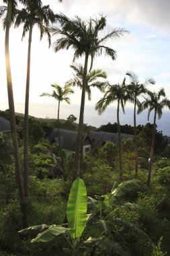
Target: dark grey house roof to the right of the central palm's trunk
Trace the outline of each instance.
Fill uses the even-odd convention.
[[[118,144],[118,133],[109,133],[107,131],[90,131],[88,133],[93,146],[104,145],[108,141]],[[134,135],[121,133],[121,139],[134,138]]]

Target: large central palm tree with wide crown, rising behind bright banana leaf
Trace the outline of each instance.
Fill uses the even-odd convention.
[[[81,145],[83,139],[83,117],[84,117],[84,107],[85,107],[85,92],[87,86],[87,69],[89,63],[89,57],[91,57],[91,67],[93,65],[93,59],[95,56],[99,56],[102,53],[112,57],[113,60],[116,59],[116,51],[110,47],[105,46],[105,42],[109,38],[119,37],[126,30],[122,28],[114,28],[112,32],[99,38],[98,34],[106,26],[105,17],[101,16],[99,20],[89,19],[88,22],[81,20],[78,16],[75,19],[69,19],[67,16],[60,14],[56,15],[60,21],[61,28],[56,26],[51,27],[51,32],[53,35],[59,35],[54,42],[54,51],[60,51],[61,49],[74,49],[74,59],[85,56],[85,62],[83,65],[83,84],[82,84],[82,94],[81,94],[81,108],[79,115],[79,129],[77,133],[77,146],[75,151],[75,164],[73,170],[73,181],[77,178],[79,173],[79,162],[81,156]]]

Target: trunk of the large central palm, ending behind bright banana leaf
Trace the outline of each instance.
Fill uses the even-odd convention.
[[[83,119],[84,119],[84,109],[85,109],[85,89],[87,84],[87,65],[88,65],[88,58],[89,53],[85,55],[85,65],[83,69],[83,88],[81,93],[81,108],[80,108],[80,115],[79,115],[79,129],[77,133],[77,143],[76,143],[76,150],[75,150],[75,164],[73,169],[73,181],[77,179],[77,175],[79,175],[79,162],[81,157],[81,145],[83,146]]]

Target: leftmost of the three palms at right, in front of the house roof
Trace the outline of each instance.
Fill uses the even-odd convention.
[[[118,122],[118,151],[119,151],[119,170],[120,170],[120,179],[122,180],[122,143],[121,143],[121,134],[120,134],[120,105],[122,106],[124,112],[124,104],[128,100],[127,96],[127,86],[125,84],[126,79],[124,78],[122,84],[108,85],[108,90],[105,92],[103,98],[101,98],[95,105],[95,109],[98,111],[99,115],[103,113],[105,108],[110,105],[112,102],[117,101],[117,122]]]

